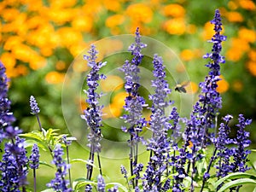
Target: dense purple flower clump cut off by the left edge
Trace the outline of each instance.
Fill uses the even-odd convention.
[[[3,191],[13,191],[22,188],[26,191],[26,175],[28,162],[24,139],[18,136],[22,131],[19,127],[11,124],[15,121],[13,113],[10,112],[10,101],[8,99],[7,77],[5,67],[0,61],[0,143],[3,138],[9,139],[9,143],[4,145],[4,154],[0,161],[0,171],[2,178],[0,187]],[[2,150],[2,149],[1,149]]]

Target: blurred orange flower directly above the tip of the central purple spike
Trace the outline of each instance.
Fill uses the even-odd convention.
[[[143,22],[148,23],[152,20],[153,11],[144,3],[131,4],[126,9],[126,15],[131,18],[131,22]]]

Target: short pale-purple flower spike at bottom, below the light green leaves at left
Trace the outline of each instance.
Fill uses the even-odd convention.
[[[69,182],[65,179],[67,175],[67,168],[69,165],[62,159],[64,154],[61,144],[56,144],[54,149],[54,159],[52,161],[56,166],[55,178],[47,184],[47,187],[54,189],[57,192],[71,192],[72,189],[68,187]]]

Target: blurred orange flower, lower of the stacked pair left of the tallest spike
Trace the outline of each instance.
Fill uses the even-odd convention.
[[[164,29],[172,35],[182,35],[186,31],[186,24],[183,18],[166,20]]]

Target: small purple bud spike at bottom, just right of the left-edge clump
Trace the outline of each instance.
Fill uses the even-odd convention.
[[[34,144],[32,147],[32,153],[29,157],[30,160],[30,168],[33,170],[33,179],[34,179],[34,192],[37,191],[37,175],[36,175],[36,169],[39,167],[39,148],[37,144]]]

